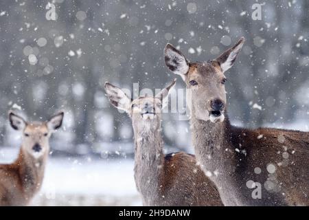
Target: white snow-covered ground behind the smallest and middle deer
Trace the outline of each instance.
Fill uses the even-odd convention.
[[[18,148],[0,148],[0,163]],[[41,192],[32,206],[141,206],[132,159],[49,158]]]

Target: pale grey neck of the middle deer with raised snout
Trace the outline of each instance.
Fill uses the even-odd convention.
[[[154,201],[163,178],[163,140],[161,129],[135,132],[135,182],[146,200]]]

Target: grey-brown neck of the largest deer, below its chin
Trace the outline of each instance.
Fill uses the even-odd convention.
[[[227,114],[225,120],[218,123],[198,120],[193,115],[194,112],[191,119],[192,144],[197,161],[218,188],[226,188],[226,183],[233,185],[238,155],[231,143],[233,133]]]

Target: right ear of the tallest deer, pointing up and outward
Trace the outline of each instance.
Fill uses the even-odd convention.
[[[244,37],[236,43],[233,47],[229,48],[229,50],[225,51],[223,54],[216,58],[218,61],[222,72],[226,72],[227,69],[233,66],[233,63],[236,61],[236,57],[239,54],[240,50],[242,50],[242,45],[244,45]]]

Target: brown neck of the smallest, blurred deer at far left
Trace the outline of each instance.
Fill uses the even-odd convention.
[[[18,168],[19,179],[26,199],[30,199],[42,185],[47,153],[39,158],[34,158],[23,150],[19,151],[19,157],[15,164]]]

